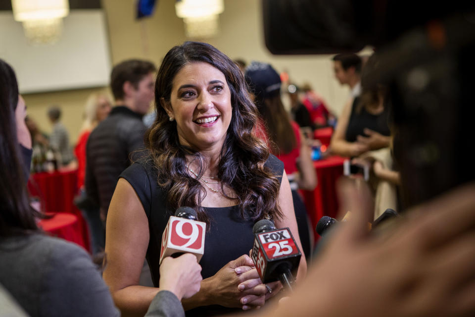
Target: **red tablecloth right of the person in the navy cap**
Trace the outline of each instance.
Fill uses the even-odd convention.
[[[314,161],[317,173],[317,187],[313,191],[302,190],[308,215],[313,228],[324,215],[335,218],[338,212],[336,197],[336,180],[343,175],[343,161],[341,157],[330,157]],[[315,235],[318,236],[317,234]]]

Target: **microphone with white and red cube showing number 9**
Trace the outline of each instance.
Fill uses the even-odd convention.
[[[206,223],[196,221],[196,211],[179,207],[163,231],[159,264],[166,257],[176,258],[184,253],[194,254],[199,262],[204,253],[205,232]]]

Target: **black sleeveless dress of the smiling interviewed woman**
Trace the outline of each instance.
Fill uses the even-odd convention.
[[[153,166],[145,161],[135,162],[129,166],[120,177],[126,179],[137,193],[148,218],[150,241],[146,259],[155,287],[160,279],[159,260],[162,233],[168,218],[175,213],[166,209],[166,192],[157,184]],[[271,155],[265,165],[282,181],[284,163]],[[245,186],[245,184],[243,184]],[[213,276],[228,262],[249,254],[254,238],[252,219],[243,219],[237,206],[225,208],[205,208],[210,217],[210,229],[205,235],[204,254],[199,264],[204,278]],[[187,316],[215,316],[227,313],[243,312],[241,309],[231,309],[218,305],[203,306],[186,312]]]

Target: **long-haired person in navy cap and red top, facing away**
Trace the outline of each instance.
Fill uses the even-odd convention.
[[[310,229],[307,210],[299,189],[314,190],[317,176],[310,148],[298,124],[290,120],[281,99],[281,78],[266,63],[253,61],[245,71],[246,82],[259,110],[265,128],[266,141],[272,153],[284,162],[285,173],[292,192],[293,209],[297,219],[298,234],[307,261],[313,250],[313,230]]]

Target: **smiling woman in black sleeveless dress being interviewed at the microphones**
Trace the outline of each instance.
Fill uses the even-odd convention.
[[[187,316],[263,306],[282,285],[262,284],[247,256],[253,224],[273,218],[301,245],[283,163],[254,134],[257,108],[241,71],[211,45],[186,42],[163,59],[155,102],[148,156],[122,173],[107,218],[103,277],[116,305],[124,315],[146,311],[159,290],[162,232],[188,206],[208,231],[201,289],[182,302]],[[138,286],[145,257],[153,288]],[[297,280],[305,272],[302,257]]]

